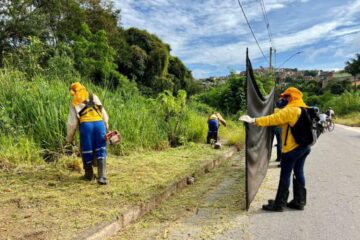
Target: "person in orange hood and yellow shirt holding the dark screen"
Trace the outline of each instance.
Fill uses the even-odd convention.
[[[280,126],[282,129],[282,161],[280,170],[280,180],[275,200],[269,200],[268,204],[262,206],[266,211],[283,211],[285,206],[297,210],[303,210],[306,205],[306,188],[304,176],[305,159],[310,153],[309,146],[300,146],[294,139],[290,131],[290,126],[294,126],[302,112],[301,108],[308,106],[302,99],[302,92],[294,87],[287,88],[280,97],[286,99],[287,105],[268,116],[252,118],[243,115],[239,120],[261,127]],[[287,203],[289,196],[289,186],[291,173],[293,175],[294,199]]]

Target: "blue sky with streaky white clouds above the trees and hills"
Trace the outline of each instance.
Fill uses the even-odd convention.
[[[270,41],[259,0],[243,0],[261,54],[238,0],[114,0],[124,28],[137,27],[170,44],[195,78],[269,65]],[[360,0],[263,0],[276,58],[273,65],[341,70],[360,53]],[[295,54],[301,52],[300,54]],[[294,55],[295,54],[295,55]]]

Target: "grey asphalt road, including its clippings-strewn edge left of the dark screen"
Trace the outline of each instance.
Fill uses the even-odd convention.
[[[237,166],[243,166],[243,159],[232,159],[231,174],[206,199],[199,200],[197,211],[147,230],[142,228],[142,235],[133,235],[133,239],[360,239],[360,128],[336,125],[333,132],[323,134],[312,147],[304,170],[308,193],[304,211],[286,209],[278,213],[261,209],[276,194],[280,169],[272,161],[249,211],[244,212],[233,201],[243,196],[237,183]],[[152,235],[154,231],[158,234]]]

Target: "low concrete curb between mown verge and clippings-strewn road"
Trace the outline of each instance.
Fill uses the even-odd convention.
[[[209,161],[204,164],[200,169],[195,171],[191,176],[186,176],[181,180],[168,186],[160,194],[153,196],[148,202],[142,203],[140,205],[129,207],[128,209],[121,211],[118,216],[109,222],[103,222],[96,226],[93,226],[85,231],[81,232],[74,239],[80,240],[103,240],[113,236],[115,233],[129,226],[131,223],[139,220],[146,213],[152,211],[157,206],[159,206],[163,201],[168,199],[172,194],[180,191],[189,185],[189,177],[197,178],[202,176],[215,167],[220,165],[222,162],[231,158],[238,150],[235,147],[231,147],[229,151],[221,155],[220,157]]]

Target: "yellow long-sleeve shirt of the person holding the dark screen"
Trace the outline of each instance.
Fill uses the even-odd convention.
[[[286,138],[286,130],[288,125],[291,127],[295,125],[296,121],[299,119],[301,114],[301,108],[299,107],[285,107],[276,111],[275,113],[256,118],[255,124],[261,127],[269,127],[269,126],[278,126],[282,129],[281,141],[282,141],[282,152],[287,153],[291,150],[297,148],[299,144],[295,142],[293,135],[291,134],[291,130],[288,131],[288,136],[285,145]]]

